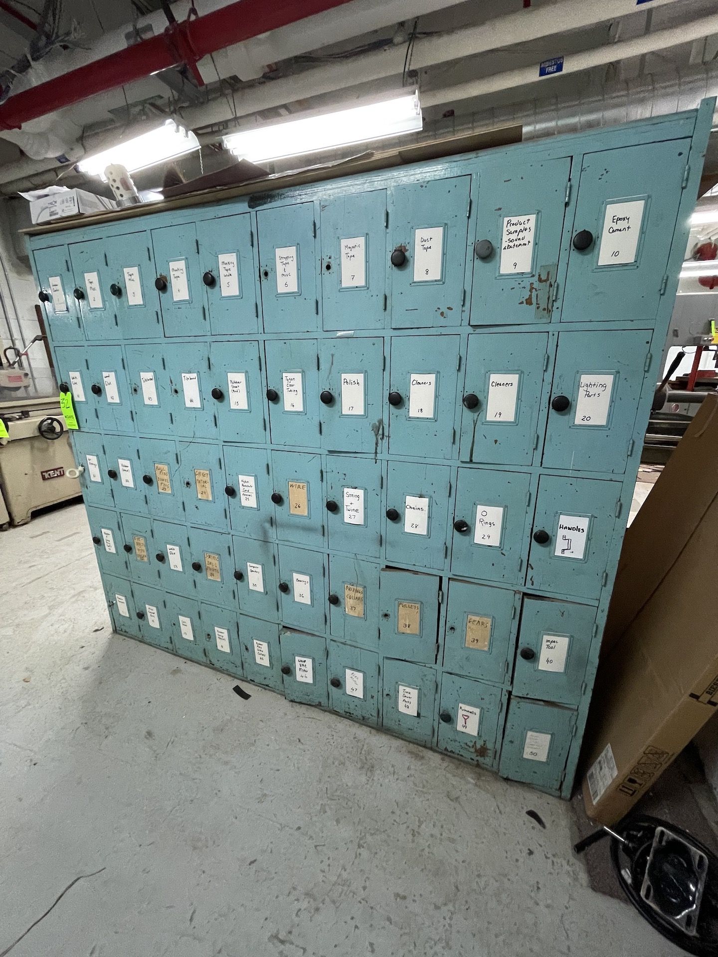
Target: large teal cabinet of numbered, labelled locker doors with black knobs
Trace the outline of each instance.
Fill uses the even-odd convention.
[[[113,629],[570,797],[714,106],[29,230]]]

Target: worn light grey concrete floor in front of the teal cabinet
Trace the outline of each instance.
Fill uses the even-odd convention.
[[[681,953],[567,804],[113,636],[81,506],[0,568],[0,957],[94,872],[12,957]]]

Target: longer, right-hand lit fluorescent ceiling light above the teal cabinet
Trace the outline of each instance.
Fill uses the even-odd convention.
[[[414,93],[336,113],[231,133],[224,137],[224,145],[236,156],[258,163],[300,153],[315,153],[332,146],[415,133],[422,124],[418,93]]]

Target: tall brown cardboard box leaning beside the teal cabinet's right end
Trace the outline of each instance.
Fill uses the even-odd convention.
[[[718,707],[718,396],[626,532],[584,738],[589,817],[615,824]]]

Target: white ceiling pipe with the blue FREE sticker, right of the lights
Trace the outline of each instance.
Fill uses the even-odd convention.
[[[518,70],[508,70],[505,73],[495,74],[493,77],[469,80],[466,83],[457,83],[454,86],[441,87],[438,90],[422,90],[420,94],[423,107],[439,106],[452,103],[456,100],[472,100],[492,93],[511,90],[518,86],[527,86],[536,83],[539,79],[550,80],[551,76],[565,77],[571,73],[591,70],[596,66],[605,66],[629,56],[643,56],[677,47],[682,43],[690,43],[703,36],[718,33],[718,13],[701,17],[690,23],[683,23],[680,27],[671,27],[668,30],[659,30],[656,33],[646,33],[631,40],[612,43],[595,50],[587,50],[580,54],[567,54],[564,59],[563,71],[549,77],[539,77],[539,64],[521,67]],[[559,51],[557,50],[558,54]]]

